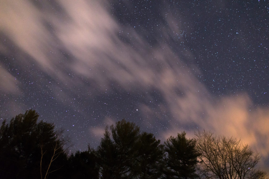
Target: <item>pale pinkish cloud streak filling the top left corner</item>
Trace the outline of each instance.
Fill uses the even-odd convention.
[[[30,1],[4,1],[1,3],[1,31],[41,66],[48,67],[46,52],[49,36],[42,23],[42,14]]]

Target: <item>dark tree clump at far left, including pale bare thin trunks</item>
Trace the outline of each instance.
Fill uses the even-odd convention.
[[[2,122],[1,178],[46,178],[62,166],[66,159],[64,140],[54,131],[52,123],[37,122],[38,116],[29,110],[12,118],[9,124],[6,120]]]

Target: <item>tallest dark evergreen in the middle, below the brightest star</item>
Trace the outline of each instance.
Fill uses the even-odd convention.
[[[108,127],[98,147],[102,178],[131,178],[137,151],[135,145],[139,139],[139,127],[125,119],[110,126],[113,141]]]

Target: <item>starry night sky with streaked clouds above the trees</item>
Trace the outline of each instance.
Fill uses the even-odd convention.
[[[262,0],[1,0],[0,122],[35,109],[73,151],[122,118],[162,141],[206,129],[268,167],[268,29]]]

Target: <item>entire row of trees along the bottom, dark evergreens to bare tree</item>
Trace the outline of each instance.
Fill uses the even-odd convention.
[[[0,128],[0,178],[266,178],[260,155],[236,137],[185,131],[161,144],[125,119],[105,128],[100,145],[68,155],[69,139],[34,110]],[[111,132],[109,132],[109,129]]]

